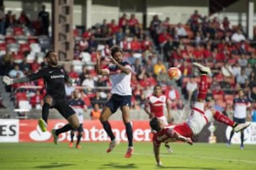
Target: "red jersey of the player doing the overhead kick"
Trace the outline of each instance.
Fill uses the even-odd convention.
[[[153,144],[159,147],[162,142],[175,142],[176,133],[182,135],[183,137],[192,137],[193,132],[191,128],[188,127],[187,123],[181,123],[175,125],[174,128],[164,128],[160,132],[156,132],[153,136]]]

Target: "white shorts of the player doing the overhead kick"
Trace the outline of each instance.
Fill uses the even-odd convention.
[[[196,102],[188,116],[187,124],[191,128],[193,135],[198,135],[203,130],[203,127],[213,119],[213,113],[210,110],[203,111],[203,108],[203,103]]]

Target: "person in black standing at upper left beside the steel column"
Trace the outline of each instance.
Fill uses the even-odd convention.
[[[38,13],[38,20],[42,23],[43,35],[49,35],[50,17],[46,11],[46,6],[42,5],[42,11]]]

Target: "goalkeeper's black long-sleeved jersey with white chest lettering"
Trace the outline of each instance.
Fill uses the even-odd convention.
[[[53,98],[65,98],[65,81],[68,81],[68,75],[63,67],[43,67],[38,72],[28,76],[28,79],[35,80],[43,78],[46,84],[46,92]]]

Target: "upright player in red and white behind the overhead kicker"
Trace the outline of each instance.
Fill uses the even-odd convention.
[[[144,111],[149,115],[149,119],[151,118],[159,118],[163,121],[164,125],[169,125],[164,115],[164,106],[166,106],[167,118],[171,118],[170,113],[170,101],[166,97],[166,95],[162,94],[161,86],[158,84],[154,86],[153,94],[150,94],[145,101]],[[156,132],[152,130],[152,132]],[[168,152],[172,152],[171,147],[168,145],[168,142],[165,143],[164,147],[166,147]]]

